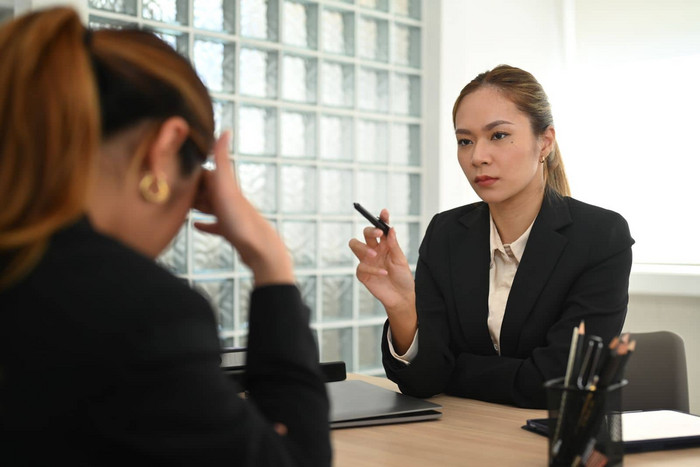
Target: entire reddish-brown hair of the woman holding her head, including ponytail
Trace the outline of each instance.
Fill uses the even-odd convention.
[[[154,34],[88,31],[73,9],[0,29],[0,289],[85,214],[100,141],[145,120],[183,117],[183,174],[208,153],[214,118],[190,63]]]

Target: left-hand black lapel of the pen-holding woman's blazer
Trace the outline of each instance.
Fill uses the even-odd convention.
[[[450,233],[450,272],[457,316],[464,342],[473,352],[493,349],[488,330],[489,210],[486,204],[469,211]]]

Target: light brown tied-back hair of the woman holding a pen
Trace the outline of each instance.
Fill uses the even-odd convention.
[[[452,123],[456,124],[457,109],[465,96],[484,86],[493,86],[502,91],[516,107],[530,118],[532,131],[540,136],[554,124],[552,108],[542,85],[532,74],[509,65],[481,73],[467,84],[459,93],[452,108]],[[554,141],[552,151],[544,161],[545,186],[561,196],[571,196],[569,182],[564,171],[564,162],[559,145]]]

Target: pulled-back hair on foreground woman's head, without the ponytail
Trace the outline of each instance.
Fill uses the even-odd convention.
[[[180,166],[184,175],[192,173],[211,148],[214,114],[190,62],[148,31],[99,30],[91,42],[103,139],[140,121],[182,117],[190,134],[180,148]]]

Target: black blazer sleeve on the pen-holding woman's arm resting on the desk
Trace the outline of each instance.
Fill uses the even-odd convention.
[[[527,356],[493,356],[461,353],[445,392],[521,407],[546,408],[543,384],[566,371],[571,333],[581,320],[586,333],[608,342],[619,334],[627,313],[629,273],[633,240],[627,222],[616,216],[605,234],[591,241],[589,255],[581,264],[559,268],[550,278],[550,295],[537,305],[532,322],[546,329],[542,343],[531,346]],[[577,271],[567,281],[568,269]],[[557,276],[559,274],[561,277]],[[551,291],[551,292],[550,292]],[[557,294],[562,294],[559,299]],[[539,308],[538,308],[539,307]],[[546,310],[551,307],[554,309]],[[545,309],[543,309],[545,308]],[[556,318],[541,318],[550,312]],[[521,341],[534,339],[523,330]]]

